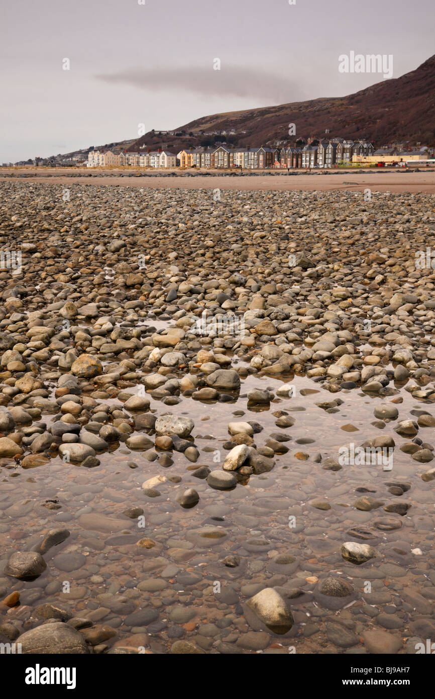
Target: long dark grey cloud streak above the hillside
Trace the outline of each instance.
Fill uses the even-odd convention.
[[[207,67],[126,69],[118,73],[96,75],[111,84],[132,85],[139,89],[184,89],[202,96],[249,97],[269,103],[304,99],[300,83],[277,73],[221,63],[220,70]]]

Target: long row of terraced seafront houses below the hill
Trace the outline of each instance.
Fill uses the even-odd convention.
[[[421,152],[418,152],[421,155]],[[417,157],[418,154],[412,154]],[[409,153],[411,157],[411,153]],[[151,168],[334,168],[340,164],[362,163],[384,159],[385,150],[375,150],[374,145],[364,140],[321,140],[318,145],[307,143],[303,147],[282,148],[232,148],[226,145],[181,150],[175,154],[168,150],[114,153],[110,150],[92,150],[88,156],[88,167],[135,166]],[[394,156],[392,156],[394,159]]]

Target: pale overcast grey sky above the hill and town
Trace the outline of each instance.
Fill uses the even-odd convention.
[[[3,0],[0,162],[383,79],[340,73],[352,50],[391,54],[393,78],[435,52],[434,0],[295,1]]]

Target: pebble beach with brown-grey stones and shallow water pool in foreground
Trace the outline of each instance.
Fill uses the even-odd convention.
[[[1,180],[0,642],[435,639],[434,185],[367,178]]]

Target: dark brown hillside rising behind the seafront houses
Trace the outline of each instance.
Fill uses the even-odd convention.
[[[270,145],[274,140],[294,140],[308,136],[367,138],[376,145],[395,141],[435,143],[435,55],[415,71],[400,78],[383,80],[346,97],[320,98],[290,102],[274,107],[262,107],[241,112],[226,112],[184,124],[175,131],[183,136],[158,136],[149,132],[141,136],[128,150],[140,145],[170,147],[178,152],[182,147],[200,144],[206,132],[230,131],[236,134],[232,145]],[[296,137],[288,136],[288,124],[296,124]],[[240,134],[246,131],[246,134]],[[188,136],[189,133],[193,136]]]

